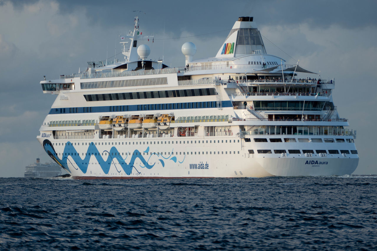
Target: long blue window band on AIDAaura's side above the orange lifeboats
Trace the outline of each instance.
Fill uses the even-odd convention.
[[[222,107],[231,107],[231,101],[221,101]],[[144,110],[170,110],[170,109],[194,109],[194,108],[216,108],[216,101],[186,102],[167,104],[145,104],[129,106],[93,106],[93,107],[70,107],[52,108],[49,114],[60,113],[86,113],[86,112],[133,112]]]

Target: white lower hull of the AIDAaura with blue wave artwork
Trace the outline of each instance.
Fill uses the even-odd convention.
[[[357,156],[343,155],[281,158],[270,154],[273,156],[266,158],[249,154],[237,137],[122,138],[107,139],[106,145],[95,139],[39,140],[74,179],[331,176],[351,174],[359,162]],[[130,144],[135,140],[138,145]],[[183,140],[229,143],[183,144]],[[55,142],[52,147],[51,142]],[[57,142],[64,143],[59,146]]]

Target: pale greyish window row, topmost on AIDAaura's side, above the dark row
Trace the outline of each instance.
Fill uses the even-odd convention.
[[[80,83],[81,89],[111,88],[126,86],[152,86],[167,84],[167,78],[141,78],[130,80],[113,80]]]

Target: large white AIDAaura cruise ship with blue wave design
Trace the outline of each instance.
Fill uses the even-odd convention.
[[[229,27],[230,28],[230,27]],[[331,176],[359,163],[336,81],[267,54],[239,17],[215,57],[150,60],[136,16],[122,58],[40,82],[57,95],[38,141],[74,179]],[[162,57],[163,58],[163,57]]]

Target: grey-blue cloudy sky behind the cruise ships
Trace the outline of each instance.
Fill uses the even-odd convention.
[[[234,21],[254,17],[268,54],[335,78],[334,104],[357,130],[353,174],[377,174],[376,9],[372,0],[0,0],[0,177],[23,176],[36,158],[50,161],[36,140],[56,98],[42,93],[43,75],[122,60],[119,36],[135,13],[143,35],[155,36],[149,57],[172,67],[184,65],[185,42],[196,44],[193,59],[214,57]]]

